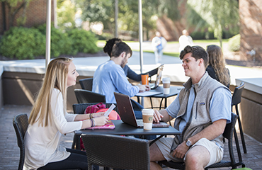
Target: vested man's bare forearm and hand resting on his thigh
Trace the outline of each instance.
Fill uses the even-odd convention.
[[[207,126],[207,128],[203,129],[201,132],[193,135],[192,137],[189,137],[188,140],[192,142],[192,145],[195,144],[195,142],[198,142],[201,138],[205,137],[207,140],[214,140],[219,135],[222,135],[224,132],[224,128],[226,127],[227,120],[220,119],[215,122],[213,122],[211,125]],[[183,159],[186,152],[188,151],[189,147],[186,146],[186,141],[183,141],[173,152],[173,157],[178,157]]]

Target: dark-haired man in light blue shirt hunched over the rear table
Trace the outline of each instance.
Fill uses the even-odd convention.
[[[148,85],[133,86],[127,80],[123,67],[132,56],[132,50],[125,42],[113,45],[110,60],[98,66],[93,75],[93,92],[106,96],[107,103],[116,103],[114,92],[135,96],[139,91],[149,91]]]

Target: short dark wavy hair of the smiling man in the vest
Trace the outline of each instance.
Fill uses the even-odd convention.
[[[200,46],[190,46],[190,45],[186,46],[184,50],[180,52],[180,55],[179,55],[180,60],[183,60],[183,57],[190,52],[192,53],[191,56],[194,57],[195,60],[202,58],[204,60],[205,68],[207,68],[209,57],[205,49]]]

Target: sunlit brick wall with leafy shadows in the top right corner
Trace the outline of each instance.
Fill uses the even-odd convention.
[[[255,60],[262,61],[262,1],[239,0],[240,56],[242,60],[254,60],[246,52],[256,51]]]

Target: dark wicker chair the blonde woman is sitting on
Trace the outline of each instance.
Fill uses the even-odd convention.
[[[13,128],[16,130],[16,137],[17,137],[17,145],[20,148],[20,161],[18,165],[18,170],[23,169],[23,163],[25,162],[25,132],[28,129],[28,115],[27,114],[19,114],[13,118]],[[44,169],[38,169],[44,170]],[[64,169],[67,170],[67,169]],[[79,169],[75,169],[79,170]]]

